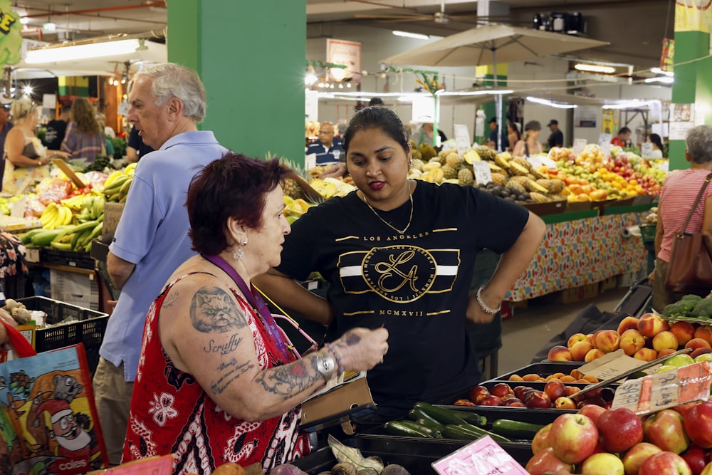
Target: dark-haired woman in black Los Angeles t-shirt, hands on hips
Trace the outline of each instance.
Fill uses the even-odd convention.
[[[343,143],[358,190],[295,221],[281,264],[254,281],[277,303],[331,325],[328,340],[355,327],[388,330],[384,365],[367,374],[377,423],[478,384],[465,322],[493,319],[545,225],[476,187],[408,179],[410,145],[393,110],[361,110]],[[504,254],[488,284],[468,295],[484,248]],[[294,280],[313,271],[330,284],[326,299]]]

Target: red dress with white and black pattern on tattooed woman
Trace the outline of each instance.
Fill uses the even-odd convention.
[[[173,453],[174,474],[208,475],[226,462],[258,462],[269,471],[308,454],[308,440],[298,432],[300,406],[262,422],[235,419],[164,352],[158,338],[161,306],[172,286],[189,275],[169,283],[148,311],[122,462]],[[285,364],[261,318],[239,293],[232,293],[252,330],[261,369]]]

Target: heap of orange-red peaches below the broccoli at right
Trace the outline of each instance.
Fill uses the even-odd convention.
[[[681,348],[691,348],[690,355],[695,358],[712,353],[712,326],[668,323],[655,313],[644,313],[640,318],[627,316],[617,330],[571,335],[566,346],[556,345],[549,350],[548,359],[591,362],[619,348],[642,361],[671,355]]]

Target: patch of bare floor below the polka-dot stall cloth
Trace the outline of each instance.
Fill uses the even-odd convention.
[[[514,317],[502,324],[497,374],[503,375],[528,365],[532,357],[589,304],[594,303],[601,311],[612,311],[627,291],[627,288],[611,289],[597,298],[565,304],[545,297],[529,301],[526,308],[515,309]]]

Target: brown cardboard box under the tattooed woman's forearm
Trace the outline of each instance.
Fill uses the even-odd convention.
[[[359,409],[374,407],[375,402],[366,378],[360,377],[303,402],[302,426],[329,421],[340,422],[342,417],[347,417]]]

